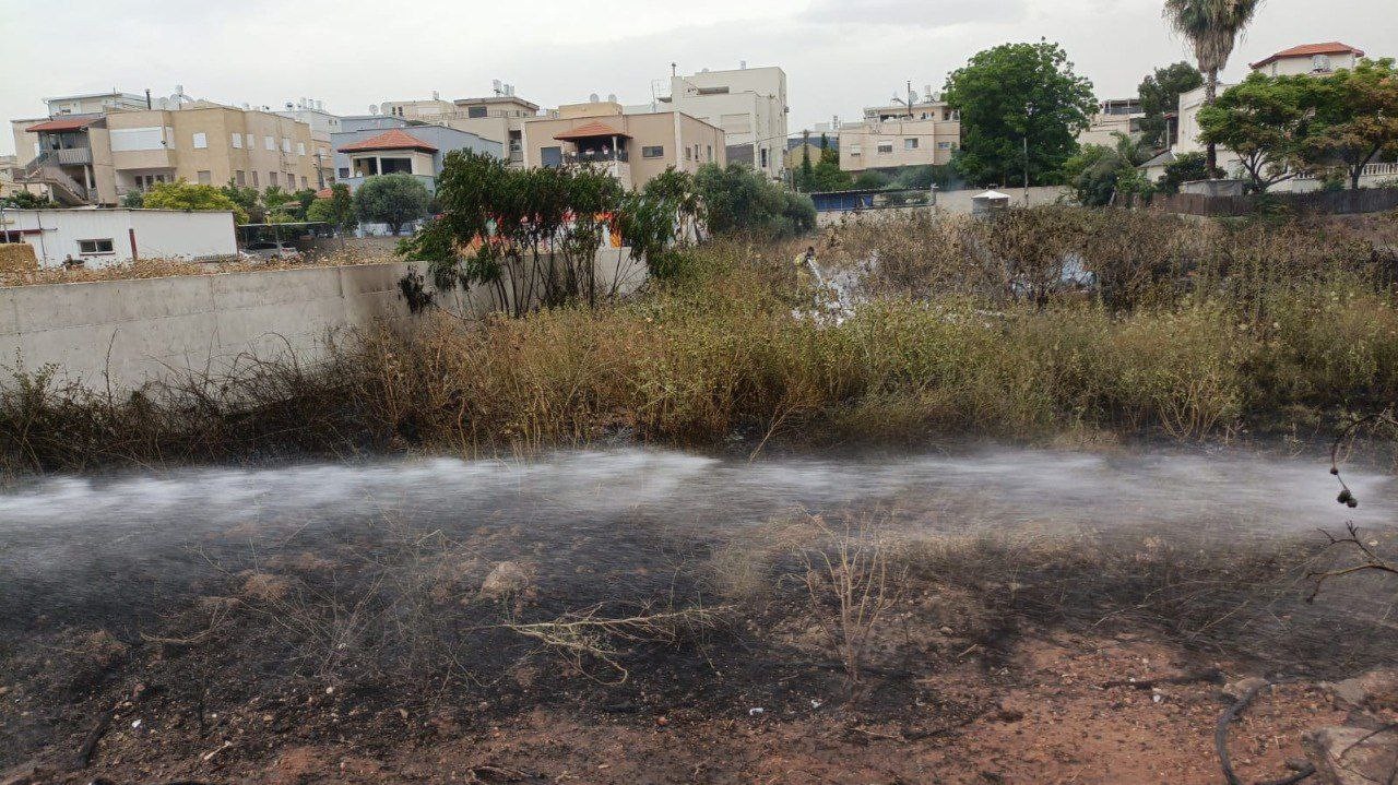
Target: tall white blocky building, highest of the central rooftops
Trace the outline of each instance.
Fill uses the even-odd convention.
[[[723,129],[730,163],[747,163],[781,179],[787,159],[787,80],[776,66],[733,70],[705,68],[670,78],[670,95],[653,105],[628,108],[646,115],[678,110]]]

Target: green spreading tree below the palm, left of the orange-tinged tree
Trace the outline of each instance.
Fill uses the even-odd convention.
[[[1309,145],[1313,87],[1306,75],[1254,73],[1199,109],[1199,138],[1230,149],[1247,175],[1248,191],[1265,193],[1306,168],[1302,152]]]

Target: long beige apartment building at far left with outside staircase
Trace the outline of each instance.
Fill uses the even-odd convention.
[[[329,138],[271,112],[207,101],[178,109],[119,109],[11,122],[17,182],[62,204],[115,205],[155,183],[187,180],[259,190],[323,187]]]

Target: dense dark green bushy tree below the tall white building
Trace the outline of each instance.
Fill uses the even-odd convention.
[[[811,197],[783,189],[741,163],[700,166],[695,189],[707,205],[709,229],[714,233],[756,232],[790,237],[815,229]]]

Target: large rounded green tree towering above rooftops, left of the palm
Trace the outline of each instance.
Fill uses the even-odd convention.
[[[960,112],[956,170],[980,184],[1022,180],[1026,158],[1030,182],[1053,182],[1097,106],[1092,82],[1047,41],[977,53],[946,78],[944,98]]]

